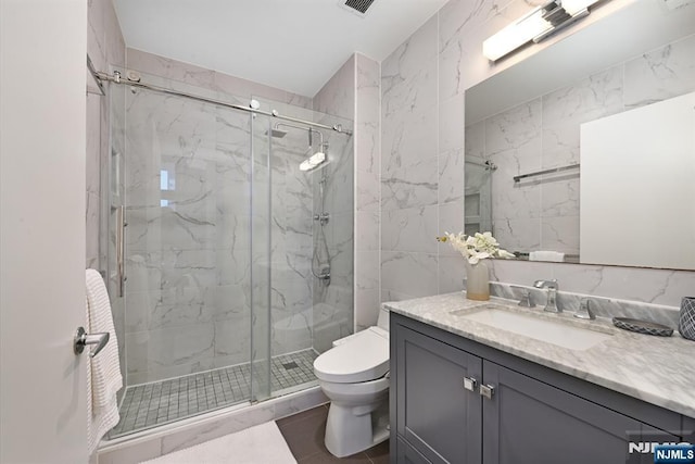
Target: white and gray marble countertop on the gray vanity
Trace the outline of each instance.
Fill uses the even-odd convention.
[[[486,303],[612,336],[586,350],[572,350],[460,317],[462,310]],[[672,337],[635,334],[615,327],[609,318],[581,321],[571,313],[545,313],[543,308],[520,308],[516,301],[494,297],[489,302],[472,301],[465,292],[383,304],[394,313],[695,417],[695,341],[675,331]]]

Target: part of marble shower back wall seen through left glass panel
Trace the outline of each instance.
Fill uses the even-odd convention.
[[[147,91],[127,99],[128,380],[245,361],[249,115]]]

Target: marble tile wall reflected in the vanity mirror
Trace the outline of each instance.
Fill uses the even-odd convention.
[[[617,63],[466,126],[466,154],[492,161],[494,234],[515,251],[579,254],[579,174],[515,185],[526,172],[580,162],[580,125],[695,90],[695,35]],[[652,70],[668,70],[655,79]],[[467,122],[468,124],[468,122]]]

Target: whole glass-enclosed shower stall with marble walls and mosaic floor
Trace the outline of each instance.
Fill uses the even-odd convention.
[[[110,438],[315,386],[353,331],[352,121],[138,77],[109,86]]]

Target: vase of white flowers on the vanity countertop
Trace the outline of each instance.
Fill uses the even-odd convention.
[[[500,248],[492,233],[477,233],[467,236],[445,233],[439,241],[448,241],[455,250],[466,259],[466,298],[469,300],[490,299],[490,274],[485,261],[488,258],[515,258],[514,254]]]

